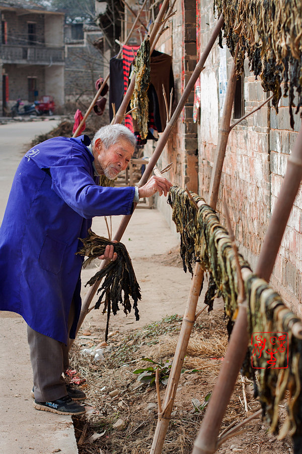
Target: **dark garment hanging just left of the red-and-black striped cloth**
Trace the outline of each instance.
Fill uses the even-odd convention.
[[[110,59],[109,68],[109,118],[111,122],[113,119],[112,103],[115,104],[115,111],[117,112],[124,97],[123,60],[113,57]]]

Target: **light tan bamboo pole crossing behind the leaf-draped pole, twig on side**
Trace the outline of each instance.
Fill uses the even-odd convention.
[[[232,115],[232,107],[236,89],[236,69],[233,64],[230,78],[228,81],[228,88],[226,90],[226,97],[223,107],[222,122],[219,129],[218,143],[215,153],[215,164],[212,169],[210,188],[211,192],[209,195],[209,205],[215,209],[218,197],[218,190],[220,185],[220,178],[222,172],[223,159],[225,154],[226,143],[228,142],[228,136],[230,133],[230,123]],[[226,134],[227,133],[227,134]],[[201,284],[203,281],[204,270],[202,269],[199,262],[196,262],[194,268],[194,275],[192,279],[191,290],[187,302],[186,312],[183,318],[183,324],[181,327],[171,372],[165,392],[165,398],[163,402],[163,411],[159,414],[157,427],[153,439],[153,444],[150,450],[152,454],[160,454],[162,452],[163,444],[165,441],[166,433],[168,430],[171,411],[176,395],[177,384],[181,374],[183,361],[186,355],[189,338],[195,322],[195,313],[197,302],[200,294]]]

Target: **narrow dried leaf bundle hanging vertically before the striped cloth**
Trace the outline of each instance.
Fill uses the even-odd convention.
[[[130,107],[136,107],[132,112],[132,118],[137,120],[138,132],[142,139],[148,135],[148,96],[150,84],[150,42],[143,40],[137,50],[134,63],[135,86],[130,101]]]

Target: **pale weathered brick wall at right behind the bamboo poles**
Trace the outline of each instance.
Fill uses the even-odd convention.
[[[201,5],[201,47],[204,47],[209,26],[213,26],[212,7]],[[203,27],[205,24],[205,27]],[[226,51],[228,75],[230,53]],[[199,193],[207,200],[214,153],[217,144],[219,116],[219,49],[212,50],[202,72],[201,117],[198,131]],[[265,100],[260,81],[250,73],[248,62],[244,73],[245,113]],[[289,125],[287,99],[280,101],[279,113],[269,104],[236,126],[229,137],[221,175],[217,210],[226,224],[222,201],[228,202],[235,236],[240,252],[255,269],[263,238],[278,197],[286,171],[287,158],[300,125],[295,115],[295,130]],[[234,121],[234,120],[232,120]],[[271,283],[284,302],[302,315],[302,190],[296,197],[291,216],[279,250]]]

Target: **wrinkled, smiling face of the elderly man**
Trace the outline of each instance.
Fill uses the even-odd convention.
[[[120,172],[125,170],[133,152],[134,148],[125,139],[121,138],[107,149],[101,139],[97,139],[93,147],[93,155],[98,173],[113,180]]]

